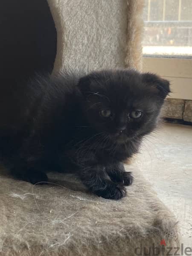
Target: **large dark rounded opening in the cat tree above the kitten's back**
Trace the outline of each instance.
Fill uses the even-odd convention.
[[[47,0],[1,0],[0,37],[0,79],[4,83],[52,71],[57,32]]]

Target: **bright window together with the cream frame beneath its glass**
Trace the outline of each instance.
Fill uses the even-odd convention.
[[[143,70],[171,81],[172,98],[192,100],[192,0],[145,0]]]

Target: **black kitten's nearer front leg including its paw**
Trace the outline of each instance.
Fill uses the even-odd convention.
[[[98,196],[118,200],[126,195],[125,188],[111,181],[103,166],[86,167],[79,176],[89,191]]]

